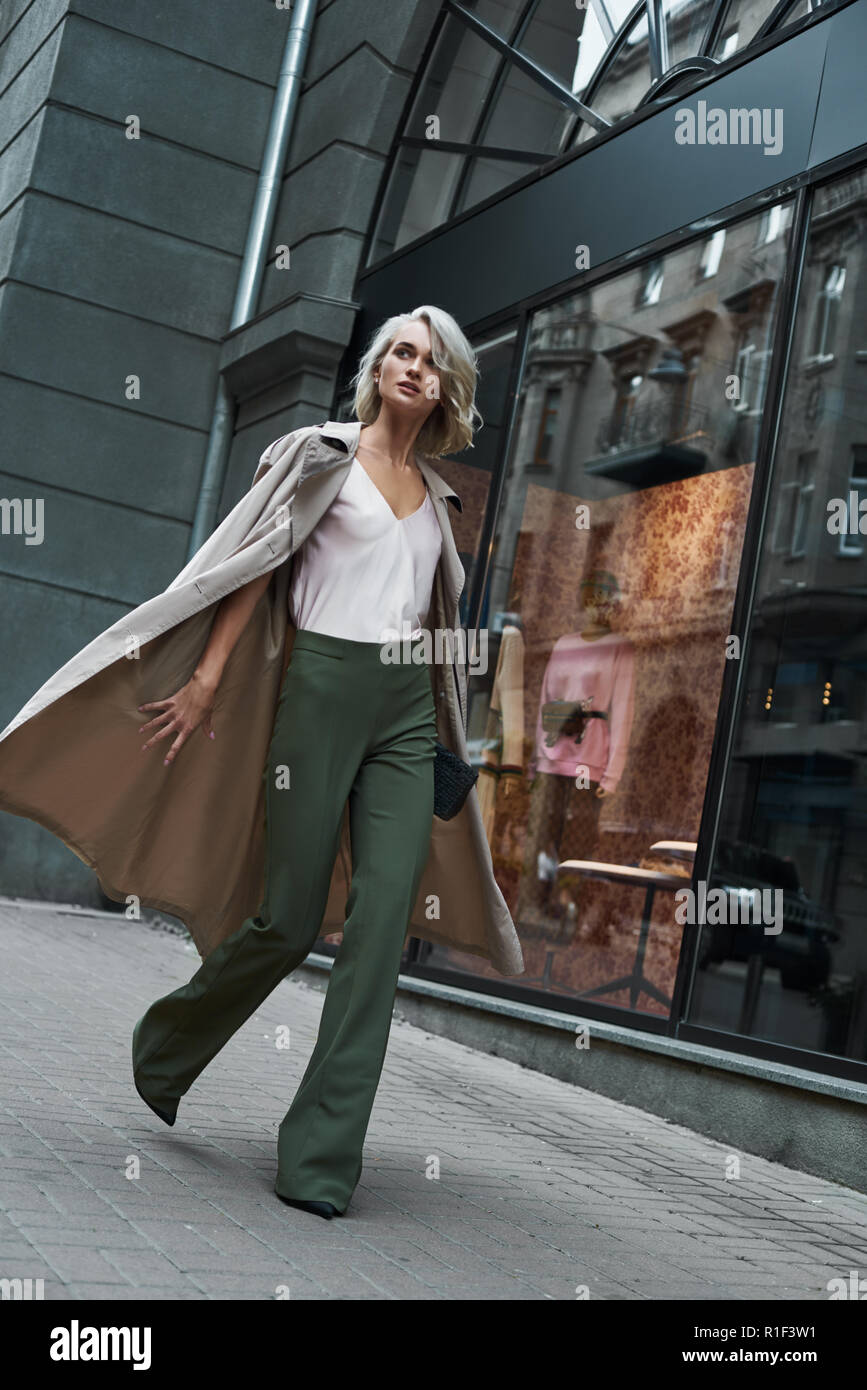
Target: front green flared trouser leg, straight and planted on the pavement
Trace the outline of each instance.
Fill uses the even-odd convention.
[[[385,1061],[403,942],[434,823],[429,676],[379,671],[378,733],[350,792],[353,877],[317,1042],[278,1133],[275,1190],[345,1211]]]

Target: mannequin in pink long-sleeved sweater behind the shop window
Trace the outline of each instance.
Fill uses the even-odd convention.
[[[542,680],[527,855],[518,894],[518,924],[545,927],[577,908],[557,885],[564,859],[593,859],[599,815],[616,791],[634,717],[635,649],[611,630],[620,587],[609,570],[582,580],[584,626],[557,638]]]

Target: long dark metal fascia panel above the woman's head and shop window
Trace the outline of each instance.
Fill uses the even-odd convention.
[[[591,267],[599,267],[677,228],[697,228],[718,208],[802,174],[817,124],[825,47],[841,24],[846,25],[843,44],[852,44],[856,17],[863,26],[867,3],[828,15],[688,97],[672,99],[382,270],[363,275],[358,297],[364,318],[378,322],[397,304],[434,300],[459,322],[474,322],[574,279],[579,243],[589,246]],[[835,50],[839,47],[835,39]],[[675,111],[697,111],[699,101],[706,103],[704,110],[781,108],[782,150],[766,154],[761,145],[677,145]],[[866,138],[857,120],[863,110],[859,95],[848,118],[824,121],[823,158]]]

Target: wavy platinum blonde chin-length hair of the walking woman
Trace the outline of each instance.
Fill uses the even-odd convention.
[[[356,386],[353,409],[363,425],[379,414],[379,388],[374,371],[382,363],[399,331],[410,318],[421,318],[431,335],[431,356],[439,368],[440,395],[418,431],[420,453],[439,459],[446,453],[472,449],[472,435],[484,423],[475,406],[478,363],[475,353],[452,314],[435,304],[420,304],[407,314],[393,314],[374,332],[350,385]]]

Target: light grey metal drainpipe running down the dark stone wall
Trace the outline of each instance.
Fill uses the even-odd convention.
[[[315,19],[315,8],[317,0],[296,0],[292,7],[289,32],[286,33],[279,78],[271,107],[271,124],[268,126],[253,213],[247,228],[247,242],[238,275],[238,291],[235,293],[229,332],[253,318],[256,306],[258,304],[258,292],[265,271],[265,254],[274,229],[286,152],[302,93],[302,79]],[[235,409],[236,402],[225,384],[222,373],[220,373],[204,468],[201,470],[201,482],[196,500],[193,530],[189,539],[188,560],[192,560],[193,555],[201,549],[214,530],[214,518],[220,506],[222,481],[232,448]]]

